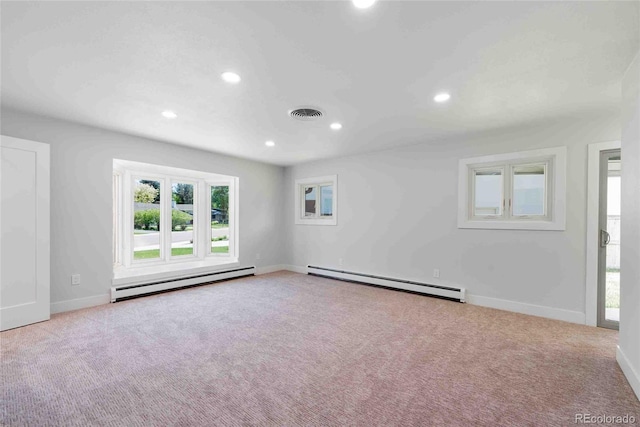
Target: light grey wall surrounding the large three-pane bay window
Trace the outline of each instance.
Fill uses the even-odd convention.
[[[282,263],[281,167],[11,110],[2,111],[1,133],[51,146],[54,311],[108,301],[113,272],[114,158],[238,176],[241,265]],[[259,261],[257,253],[261,254]],[[81,275],[82,283],[72,287],[71,274],[75,273]]]

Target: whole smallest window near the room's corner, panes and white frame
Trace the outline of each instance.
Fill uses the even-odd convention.
[[[296,224],[337,224],[337,175],[296,180]]]

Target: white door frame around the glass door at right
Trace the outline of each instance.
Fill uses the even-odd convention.
[[[585,323],[598,325],[598,248],[600,245],[600,153],[620,149],[620,141],[596,142],[588,146],[587,169],[587,254]]]

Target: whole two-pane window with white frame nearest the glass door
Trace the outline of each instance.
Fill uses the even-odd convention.
[[[460,160],[459,228],[564,230],[566,148]]]

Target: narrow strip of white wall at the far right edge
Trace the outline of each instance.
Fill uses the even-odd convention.
[[[640,52],[622,81],[618,362],[640,398]]]

